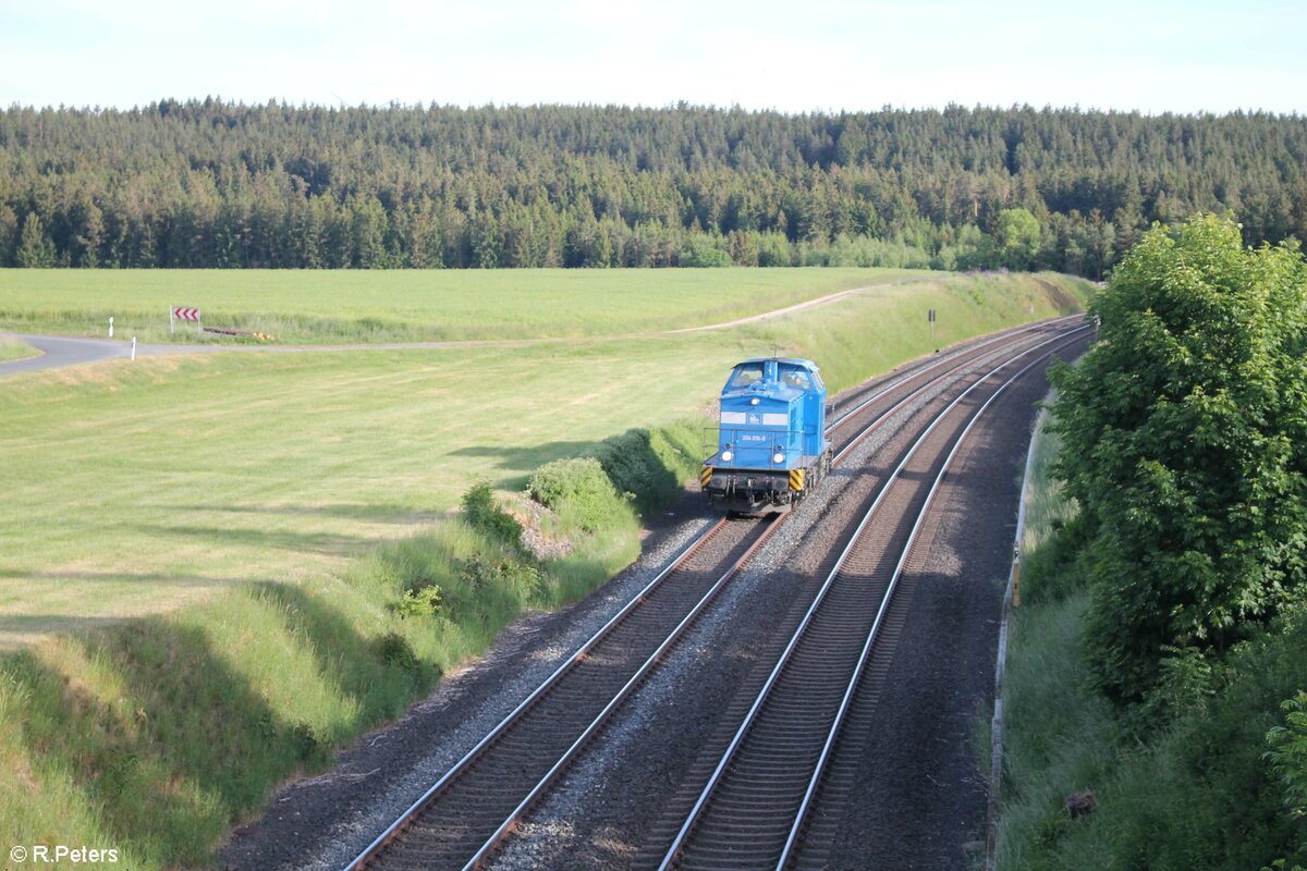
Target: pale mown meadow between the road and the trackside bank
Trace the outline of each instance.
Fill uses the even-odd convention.
[[[116,360],[0,381],[0,646],[340,571],[478,478],[707,407],[740,356],[847,385],[938,342],[1067,307],[1033,277],[895,285],[775,321],[520,347]],[[1064,291],[1065,293],[1065,291]],[[920,311],[919,311],[920,309]]]

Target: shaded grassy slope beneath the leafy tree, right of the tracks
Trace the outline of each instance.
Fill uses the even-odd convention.
[[[1089,592],[1052,535],[1074,515],[1050,477],[1056,452],[1057,439],[1040,436],[1027,585],[1009,636],[999,868],[1255,871],[1286,855],[1307,862],[1307,820],[1282,812],[1283,791],[1263,757],[1266,730],[1282,722],[1278,704],[1303,688],[1307,614],[1234,653],[1227,679],[1170,730],[1123,736],[1110,705],[1086,688]],[[1086,789],[1099,807],[1072,821],[1063,802]]]

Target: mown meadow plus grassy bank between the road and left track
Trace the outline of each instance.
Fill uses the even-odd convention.
[[[622,521],[538,586],[472,589],[468,560],[511,552],[430,522],[472,479],[518,487],[633,424],[685,434],[745,354],[814,355],[838,388],[928,351],[927,307],[944,345],[1030,304],[1065,311],[1068,286],[937,278],[729,333],[5,380],[0,627],[10,644],[71,632],[0,658],[0,841],[203,863],[274,784],[396,716],[519,609],[583,594],[638,551]],[[405,578],[442,586],[440,616],[397,615]],[[188,593],[208,594],[179,607]],[[178,610],[124,619],[161,606]]]

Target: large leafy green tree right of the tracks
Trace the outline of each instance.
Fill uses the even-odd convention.
[[[1303,589],[1307,266],[1205,215],[1145,234],[1093,313],[1055,426],[1090,530],[1090,669],[1131,703]]]

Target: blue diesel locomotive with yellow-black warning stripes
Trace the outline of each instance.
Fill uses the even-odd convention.
[[[710,504],[757,515],[797,503],[830,471],[826,385],[817,366],[776,356],[737,364],[721,388],[712,441],[699,474]]]

